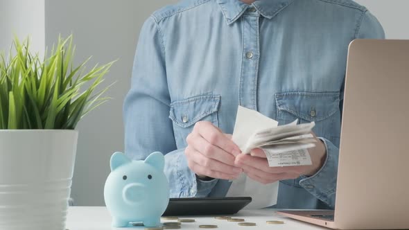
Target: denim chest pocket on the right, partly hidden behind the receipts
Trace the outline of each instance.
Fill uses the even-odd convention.
[[[284,125],[315,122],[313,131],[317,136],[339,145],[340,139],[340,93],[339,92],[291,92],[276,94],[277,121]]]

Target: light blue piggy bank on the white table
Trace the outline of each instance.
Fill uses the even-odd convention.
[[[160,226],[169,202],[164,165],[164,155],[160,152],[153,152],[145,161],[131,161],[121,152],[112,154],[111,173],[104,188],[112,227],[127,227],[130,222]]]

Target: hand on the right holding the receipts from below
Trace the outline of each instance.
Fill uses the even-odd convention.
[[[239,154],[236,166],[243,168],[245,174],[262,184],[270,184],[284,179],[296,179],[301,175],[311,176],[320,170],[326,157],[327,150],[324,143],[317,139],[314,148],[308,149],[311,156],[311,166],[270,167],[263,150],[256,148],[251,154]]]

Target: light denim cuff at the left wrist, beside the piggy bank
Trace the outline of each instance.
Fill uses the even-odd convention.
[[[170,196],[207,197],[218,179],[202,181],[196,178],[187,164],[184,148],[165,155],[164,172],[169,182]]]

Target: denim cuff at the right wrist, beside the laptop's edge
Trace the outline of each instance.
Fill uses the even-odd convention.
[[[324,142],[327,150],[327,159],[315,175],[302,176],[299,185],[333,209],[336,198],[339,148],[327,139],[320,138],[320,140]]]

